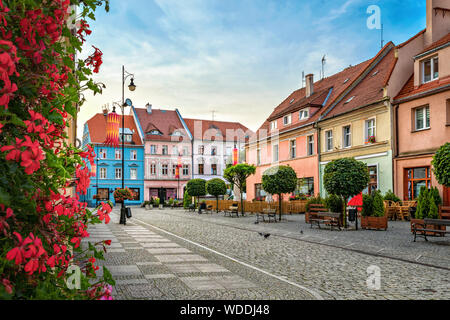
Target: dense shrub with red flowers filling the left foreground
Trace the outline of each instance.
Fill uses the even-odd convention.
[[[111,298],[109,271],[95,280],[111,241],[81,248],[88,225],[108,223],[111,206],[91,212],[71,195],[86,194],[95,154],[66,133],[82,92],[104,87],[90,78],[101,51],[76,58],[91,34],[85,19],[103,3],[108,10],[108,0],[0,0],[0,299]],[[73,266],[80,286],[69,289]]]

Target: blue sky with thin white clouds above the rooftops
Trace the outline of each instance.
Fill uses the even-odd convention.
[[[104,53],[87,95],[82,125],[102,105],[121,100],[121,67],[138,88],[137,107],[178,108],[186,117],[239,121],[256,130],[301,86],[302,71],[319,78],[373,57],[380,31],[369,30],[370,5],[381,9],[384,39],[399,44],[425,28],[425,0],[111,0],[90,21],[86,43]]]

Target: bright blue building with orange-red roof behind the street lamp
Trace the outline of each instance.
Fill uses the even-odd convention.
[[[133,200],[126,200],[125,204],[133,206],[144,202],[144,145],[133,116],[125,116],[124,133],[125,165],[122,172],[122,144],[118,148],[103,144],[106,139],[106,116],[97,114],[84,125],[83,147],[91,144],[96,154],[94,166],[88,164],[95,177],[91,178],[87,195],[81,196],[89,207],[108,200],[116,205],[114,191],[122,188],[122,175],[125,188],[131,189],[136,196]],[[122,137],[122,129],[120,134]]]

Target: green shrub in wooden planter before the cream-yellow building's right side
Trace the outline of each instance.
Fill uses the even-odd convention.
[[[361,228],[387,230],[388,219],[384,210],[383,197],[381,196],[380,191],[375,191],[370,196],[363,195]]]

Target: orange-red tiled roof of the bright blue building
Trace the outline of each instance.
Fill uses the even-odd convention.
[[[102,113],[97,113],[90,120],[87,121],[91,143],[102,144],[106,140],[106,116]],[[120,128],[122,128],[122,118],[120,121]],[[139,137],[136,123],[133,116],[125,116],[125,129],[130,129],[133,134],[133,144],[142,146],[141,138]]]

